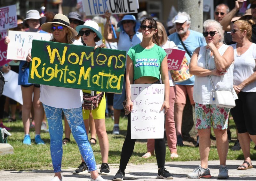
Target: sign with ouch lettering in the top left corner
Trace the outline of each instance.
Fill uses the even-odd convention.
[[[17,27],[16,5],[0,8],[0,30],[7,30]]]

